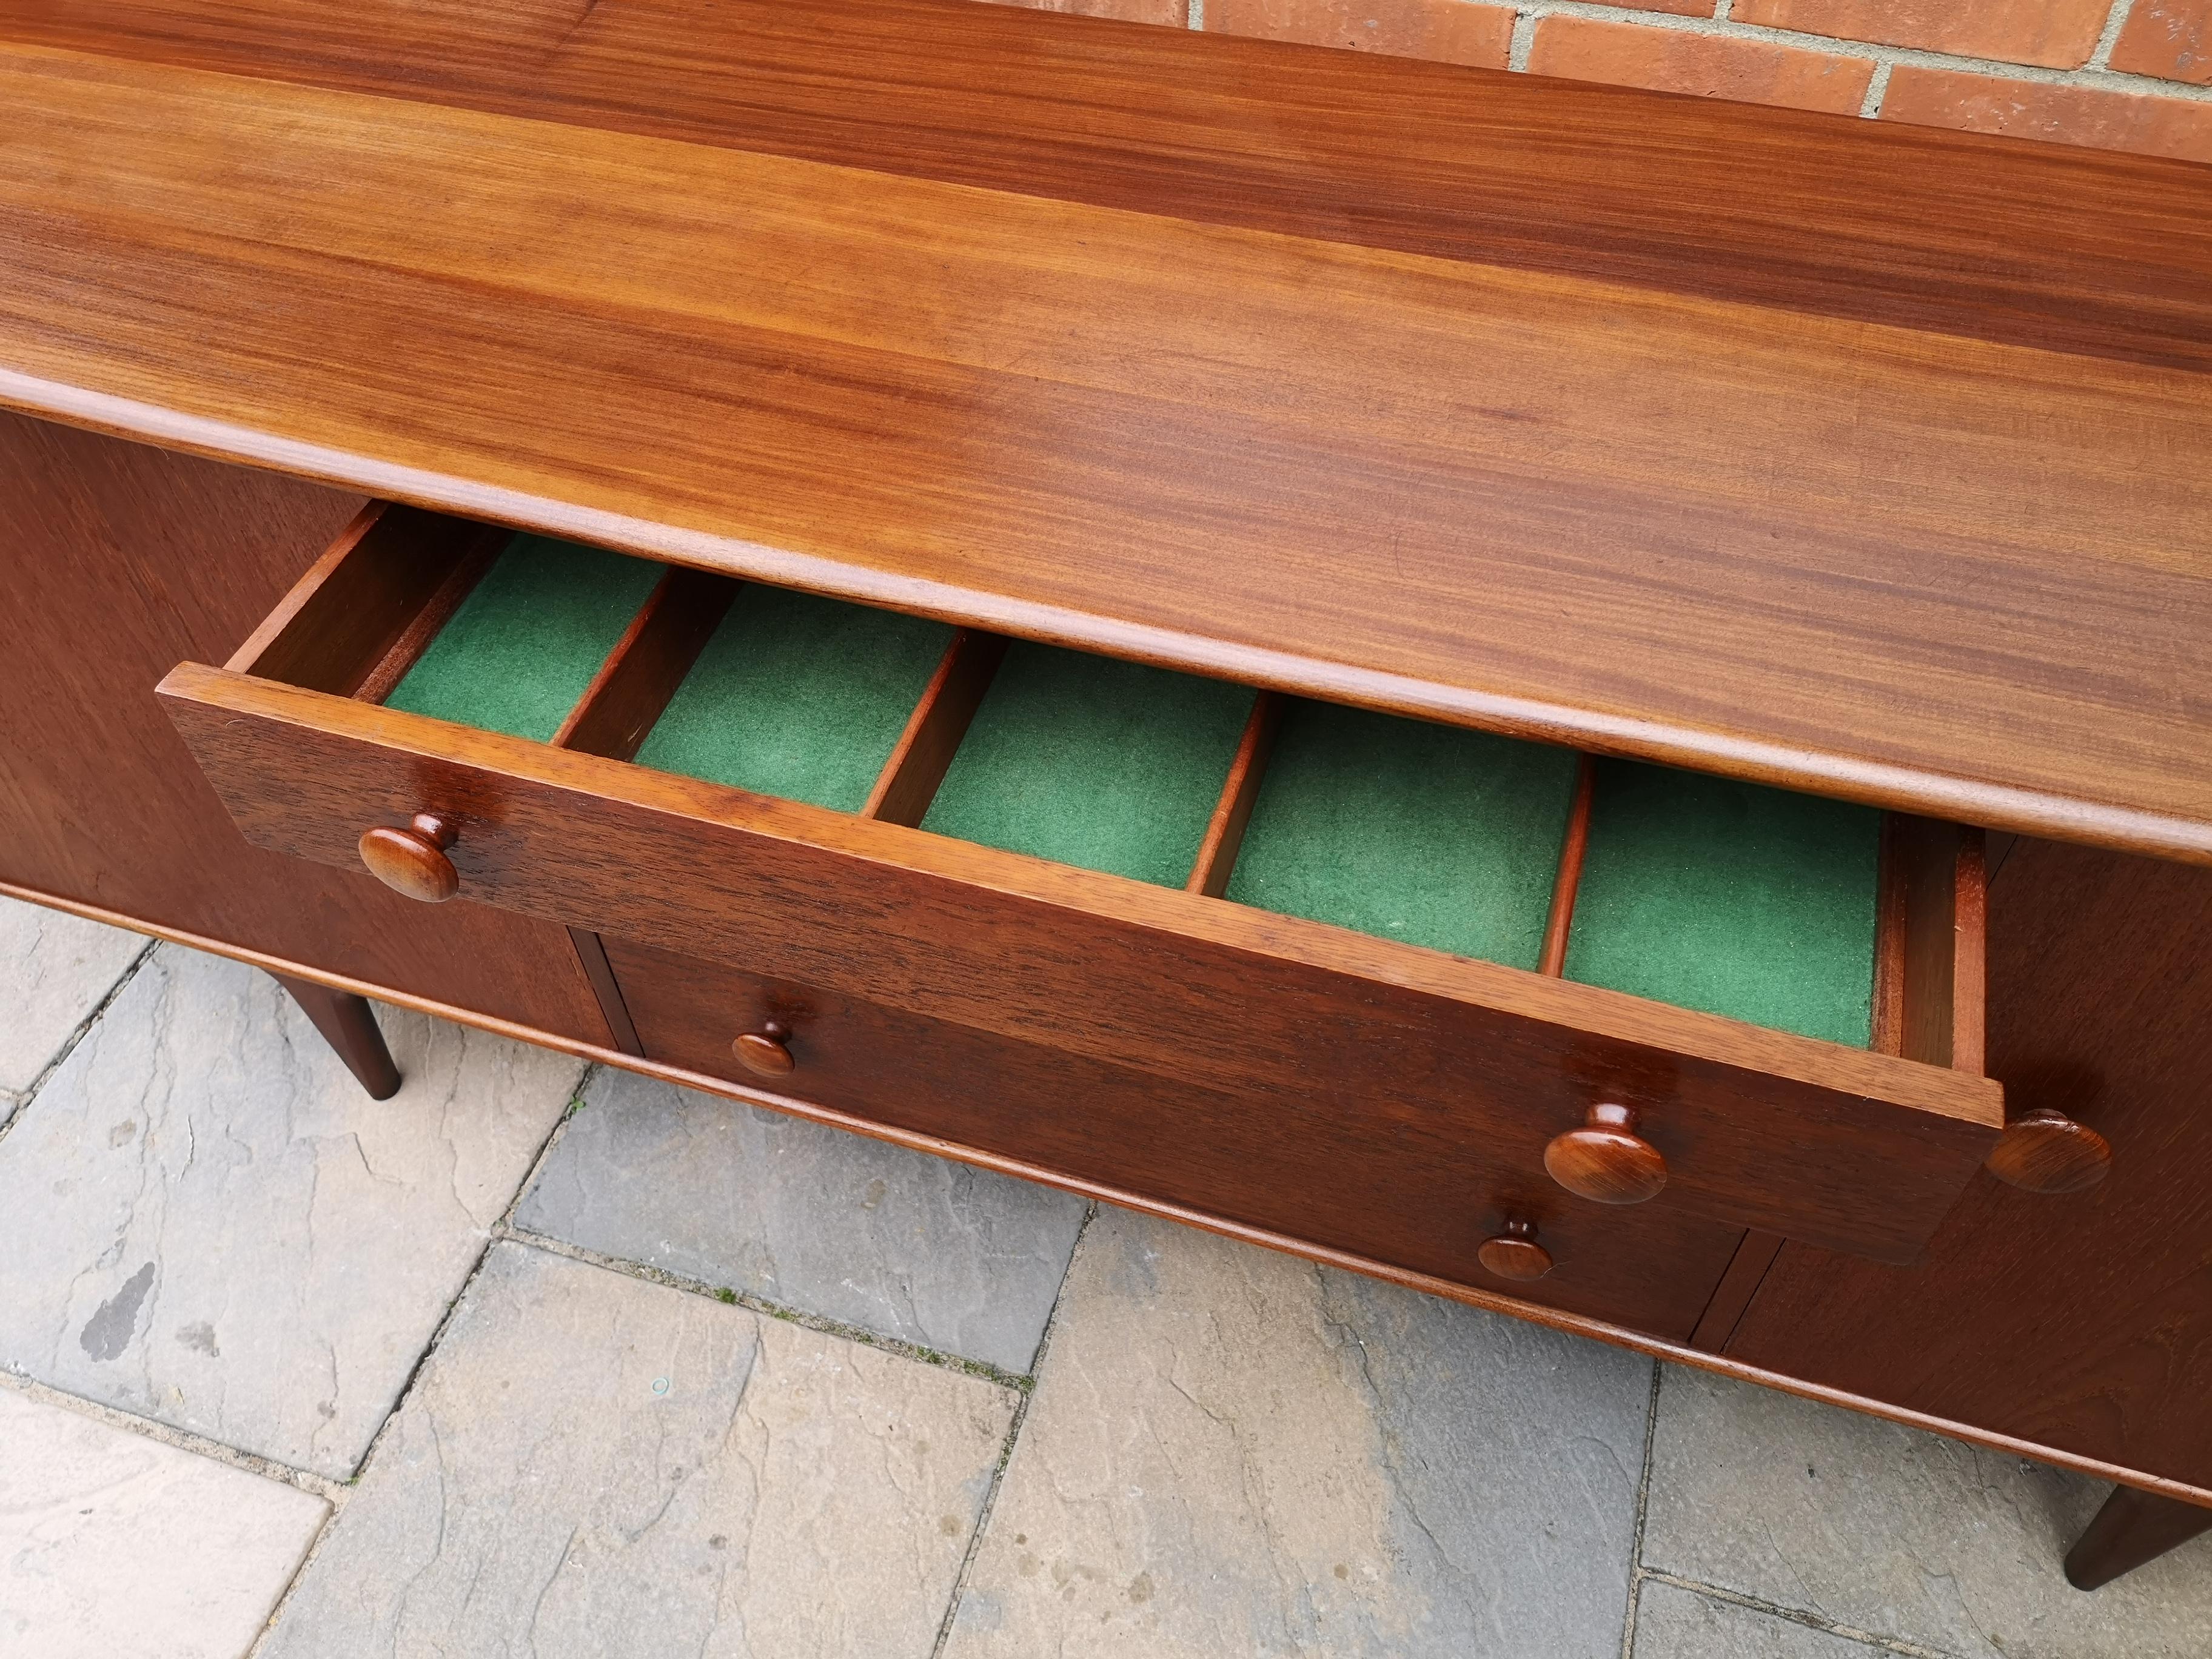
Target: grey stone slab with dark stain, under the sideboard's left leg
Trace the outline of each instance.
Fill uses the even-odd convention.
[[[0,1365],[352,1473],[582,1075],[380,1018],[372,1102],[265,973],[157,947],[0,1141]]]

